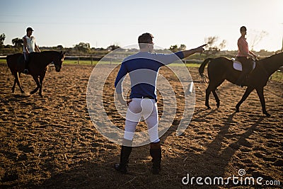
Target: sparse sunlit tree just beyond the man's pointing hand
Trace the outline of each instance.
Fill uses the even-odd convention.
[[[204,41],[207,43],[206,48],[208,48],[208,50],[205,50],[203,53],[204,55],[207,55],[207,57],[209,55],[215,55],[226,46],[226,40],[222,40],[219,45],[216,45],[215,43],[218,41],[218,37],[216,36],[205,38]]]

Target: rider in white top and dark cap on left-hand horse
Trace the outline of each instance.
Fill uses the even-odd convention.
[[[32,36],[33,28],[26,29],[27,34],[23,36],[23,56],[25,57],[25,69],[23,70],[24,74],[28,74],[28,62],[30,59],[31,52],[40,52],[40,49],[35,43],[35,37]]]

